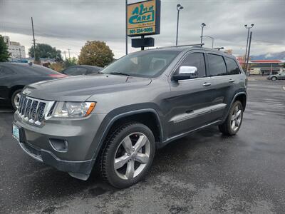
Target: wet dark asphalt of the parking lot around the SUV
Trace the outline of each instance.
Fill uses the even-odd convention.
[[[28,157],[0,109],[0,213],[285,213],[285,81],[249,81],[237,136],[207,128],[157,151],[125,190]]]

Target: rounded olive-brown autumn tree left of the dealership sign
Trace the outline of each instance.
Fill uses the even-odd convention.
[[[90,66],[107,66],[113,61],[113,52],[104,41],[87,41],[81,49],[78,63]]]

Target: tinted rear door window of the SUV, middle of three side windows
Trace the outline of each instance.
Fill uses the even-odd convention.
[[[210,76],[227,75],[226,64],[224,63],[224,58],[222,56],[208,54],[208,61]]]

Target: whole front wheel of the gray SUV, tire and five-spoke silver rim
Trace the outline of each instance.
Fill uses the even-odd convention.
[[[101,176],[115,188],[128,188],[147,175],[154,156],[150,128],[142,123],[124,124],[105,141],[99,160]]]

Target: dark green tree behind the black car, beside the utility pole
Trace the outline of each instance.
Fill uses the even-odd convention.
[[[35,56],[33,46],[28,49],[28,56]],[[48,44],[36,44],[36,58],[55,58],[56,61],[62,61],[61,50]]]

